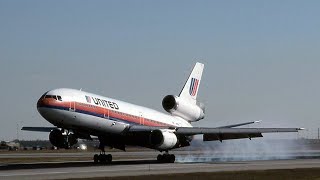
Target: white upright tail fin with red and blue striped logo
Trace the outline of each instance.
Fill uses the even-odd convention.
[[[184,84],[179,97],[196,103],[203,68],[204,64],[199,62],[196,63],[187,82]]]

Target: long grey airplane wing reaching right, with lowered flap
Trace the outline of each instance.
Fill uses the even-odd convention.
[[[243,139],[263,137],[262,133],[298,132],[303,128],[230,128],[230,127],[147,127],[131,126],[129,132],[152,132],[157,129],[172,129],[177,135],[199,135],[203,134],[203,141],[222,141],[227,139]]]

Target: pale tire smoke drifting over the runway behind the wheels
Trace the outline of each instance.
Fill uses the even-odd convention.
[[[241,139],[223,142],[195,140],[176,162],[219,162],[298,159],[319,156],[306,140]],[[311,146],[310,146],[311,145]]]

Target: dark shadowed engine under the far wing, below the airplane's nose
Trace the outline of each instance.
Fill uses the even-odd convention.
[[[58,148],[69,148],[78,142],[78,138],[75,134],[70,133],[67,135],[58,129],[50,132],[49,140],[52,145]]]

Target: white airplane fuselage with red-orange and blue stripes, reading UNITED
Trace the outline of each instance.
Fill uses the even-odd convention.
[[[75,89],[55,89],[38,101],[39,113],[64,129],[121,134],[130,125],[192,127],[179,117]]]

